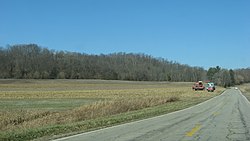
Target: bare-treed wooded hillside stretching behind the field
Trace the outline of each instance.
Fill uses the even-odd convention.
[[[227,87],[250,82],[250,68],[205,70],[146,54],[90,55],[54,51],[36,44],[0,48],[1,79],[105,79],[195,82],[210,80]]]

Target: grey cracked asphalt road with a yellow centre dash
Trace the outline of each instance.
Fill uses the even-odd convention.
[[[232,88],[185,110],[56,141],[250,141],[250,102]]]

